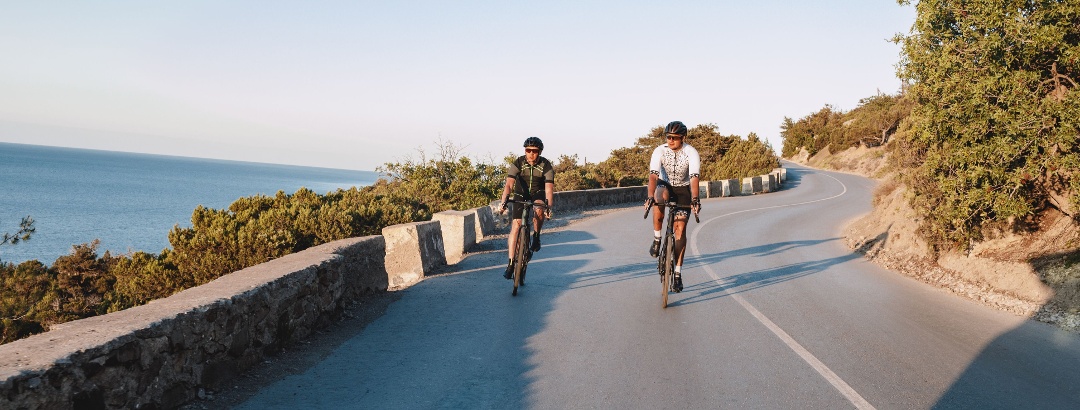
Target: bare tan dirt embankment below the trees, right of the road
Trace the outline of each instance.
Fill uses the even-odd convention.
[[[845,229],[848,246],[867,259],[983,304],[1080,331],[1080,227],[1047,217],[1034,234],[1001,233],[967,254],[933,256],[917,234],[913,194],[886,168],[881,148],[852,148],[789,161],[879,181],[874,210]]]

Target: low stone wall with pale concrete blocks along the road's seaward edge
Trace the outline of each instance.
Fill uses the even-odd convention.
[[[741,191],[739,180],[702,183],[707,197],[760,192]],[[583,209],[642,203],[646,188],[555,195],[558,209]],[[365,293],[410,286],[454,263],[495,231],[488,207],[441,214],[0,345],[0,409],[176,408],[333,325]]]

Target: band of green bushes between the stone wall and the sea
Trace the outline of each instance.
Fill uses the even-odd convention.
[[[597,164],[578,165],[577,155],[564,156],[557,164],[558,190],[642,184],[661,134],[662,127],[656,127]],[[706,178],[760,175],[778,164],[772,149],[754,135],[720,136],[715,125],[706,124],[694,127],[690,137],[708,164]],[[315,245],[377,235],[384,227],[430,220],[447,209],[484,206],[502,191],[505,164],[471,160],[449,142],[440,142],[434,156],[423,150],[418,156],[379,167],[383,177],[370,187],[246,196],[225,209],[200,206],[191,214],[191,227],[174,227],[171,247],[158,254],[98,255],[93,241],[75,245],[52,265],[0,261],[0,343],[145,304]],[[32,222],[24,219],[0,246],[29,240]]]

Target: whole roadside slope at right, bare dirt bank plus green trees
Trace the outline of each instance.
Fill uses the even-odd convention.
[[[849,232],[872,258],[1076,329],[1080,3],[917,12],[895,39],[909,86],[785,120],[783,154],[882,180],[874,215]]]

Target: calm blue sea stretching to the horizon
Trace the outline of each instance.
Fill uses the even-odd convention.
[[[73,245],[97,251],[161,252],[174,226],[191,227],[197,206],[227,208],[242,196],[316,193],[375,183],[370,170],[207,160],[0,142],[0,233],[24,217],[29,241],[0,245],[0,262],[52,265]]]

